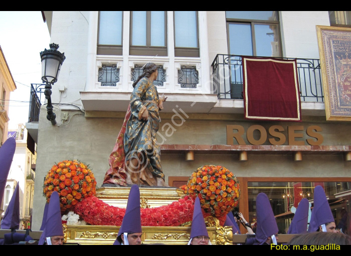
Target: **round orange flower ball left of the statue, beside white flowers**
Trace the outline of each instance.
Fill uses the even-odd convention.
[[[44,195],[47,201],[53,191],[60,195],[61,211],[71,208],[84,198],[95,195],[96,180],[89,167],[76,160],[55,164],[45,177]]]

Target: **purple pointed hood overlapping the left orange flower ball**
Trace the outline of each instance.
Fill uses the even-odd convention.
[[[40,237],[39,244],[44,244],[45,238],[50,236],[63,236],[62,217],[59,194],[54,191],[50,196],[49,208],[46,217],[44,231]]]

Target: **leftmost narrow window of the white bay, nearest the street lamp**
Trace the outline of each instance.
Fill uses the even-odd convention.
[[[99,12],[98,55],[122,55],[122,11]]]

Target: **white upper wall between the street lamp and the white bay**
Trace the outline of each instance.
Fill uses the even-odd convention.
[[[80,104],[79,91],[84,91],[86,83],[88,21],[87,11],[53,12],[50,42],[59,44],[58,50],[66,56],[58,82],[53,85],[54,103]],[[67,88],[62,93],[60,85]]]

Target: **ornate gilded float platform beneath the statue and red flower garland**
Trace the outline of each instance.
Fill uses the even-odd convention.
[[[130,187],[100,187],[96,197],[111,206],[127,205]],[[174,187],[140,187],[140,206],[154,208],[168,205],[184,197],[182,190]],[[232,227],[222,227],[218,219],[205,219],[212,244],[232,244]],[[64,225],[65,241],[79,244],[113,244],[119,226]],[[179,227],[142,227],[142,243],[187,244],[190,239],[191,223]]]

